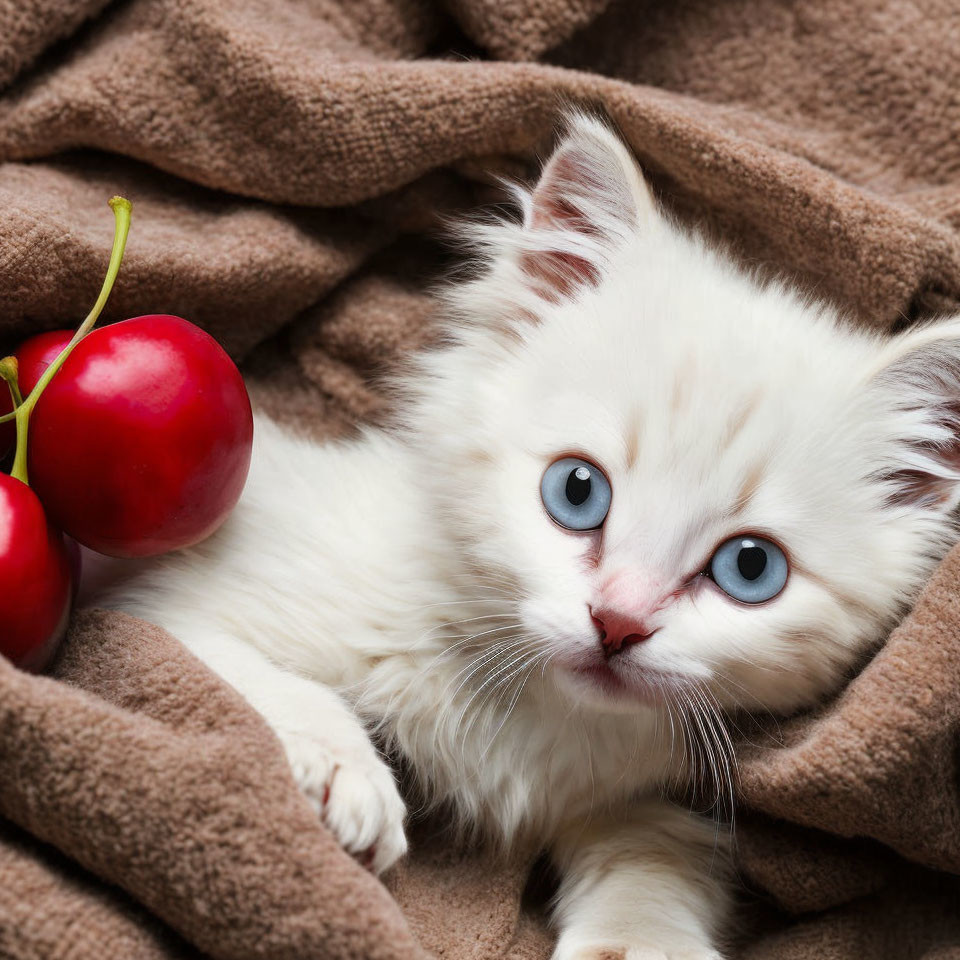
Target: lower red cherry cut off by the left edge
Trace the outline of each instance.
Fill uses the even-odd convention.
[[[70,557],[24,483],[0,474],[0,654],[42,670],[70,616]]]

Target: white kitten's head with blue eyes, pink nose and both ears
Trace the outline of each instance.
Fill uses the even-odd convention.
[[[816,700],[946,548],[960,322],[880,339],[747,275],[588,117],[519,198],[417,408],[476,594],[599,709]]]

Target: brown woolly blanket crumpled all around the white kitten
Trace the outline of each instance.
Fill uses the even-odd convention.
[[[202,324],[318,436],[376,419],[439,216],[530,172],[564,98],[679,216],[890,329],[960,303],[957,90],[950,0],[0,0],[0,338],[77,324],[119,192],[108,320]],[[740,763],[738,956],[960,957],[960,552]],[[528,867],[421,826],[385,888],[149,625],[79,614],[53,679],[0,661],[5,960],[542,960]]]

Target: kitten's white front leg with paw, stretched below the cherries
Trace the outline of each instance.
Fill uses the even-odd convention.
[[[369,856],[376,873],[396,862],[407,849],[406,808],[390,768],[336,692],[281,669],[229,635],[178,633],[270,724],[294,779],[341,845]]]

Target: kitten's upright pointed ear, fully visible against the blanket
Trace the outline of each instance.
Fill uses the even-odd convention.
[[[595,117],[572,114],[525,210],[521,269],[553,300],[595,285],[604,256],[655,209],[623,141]]]

